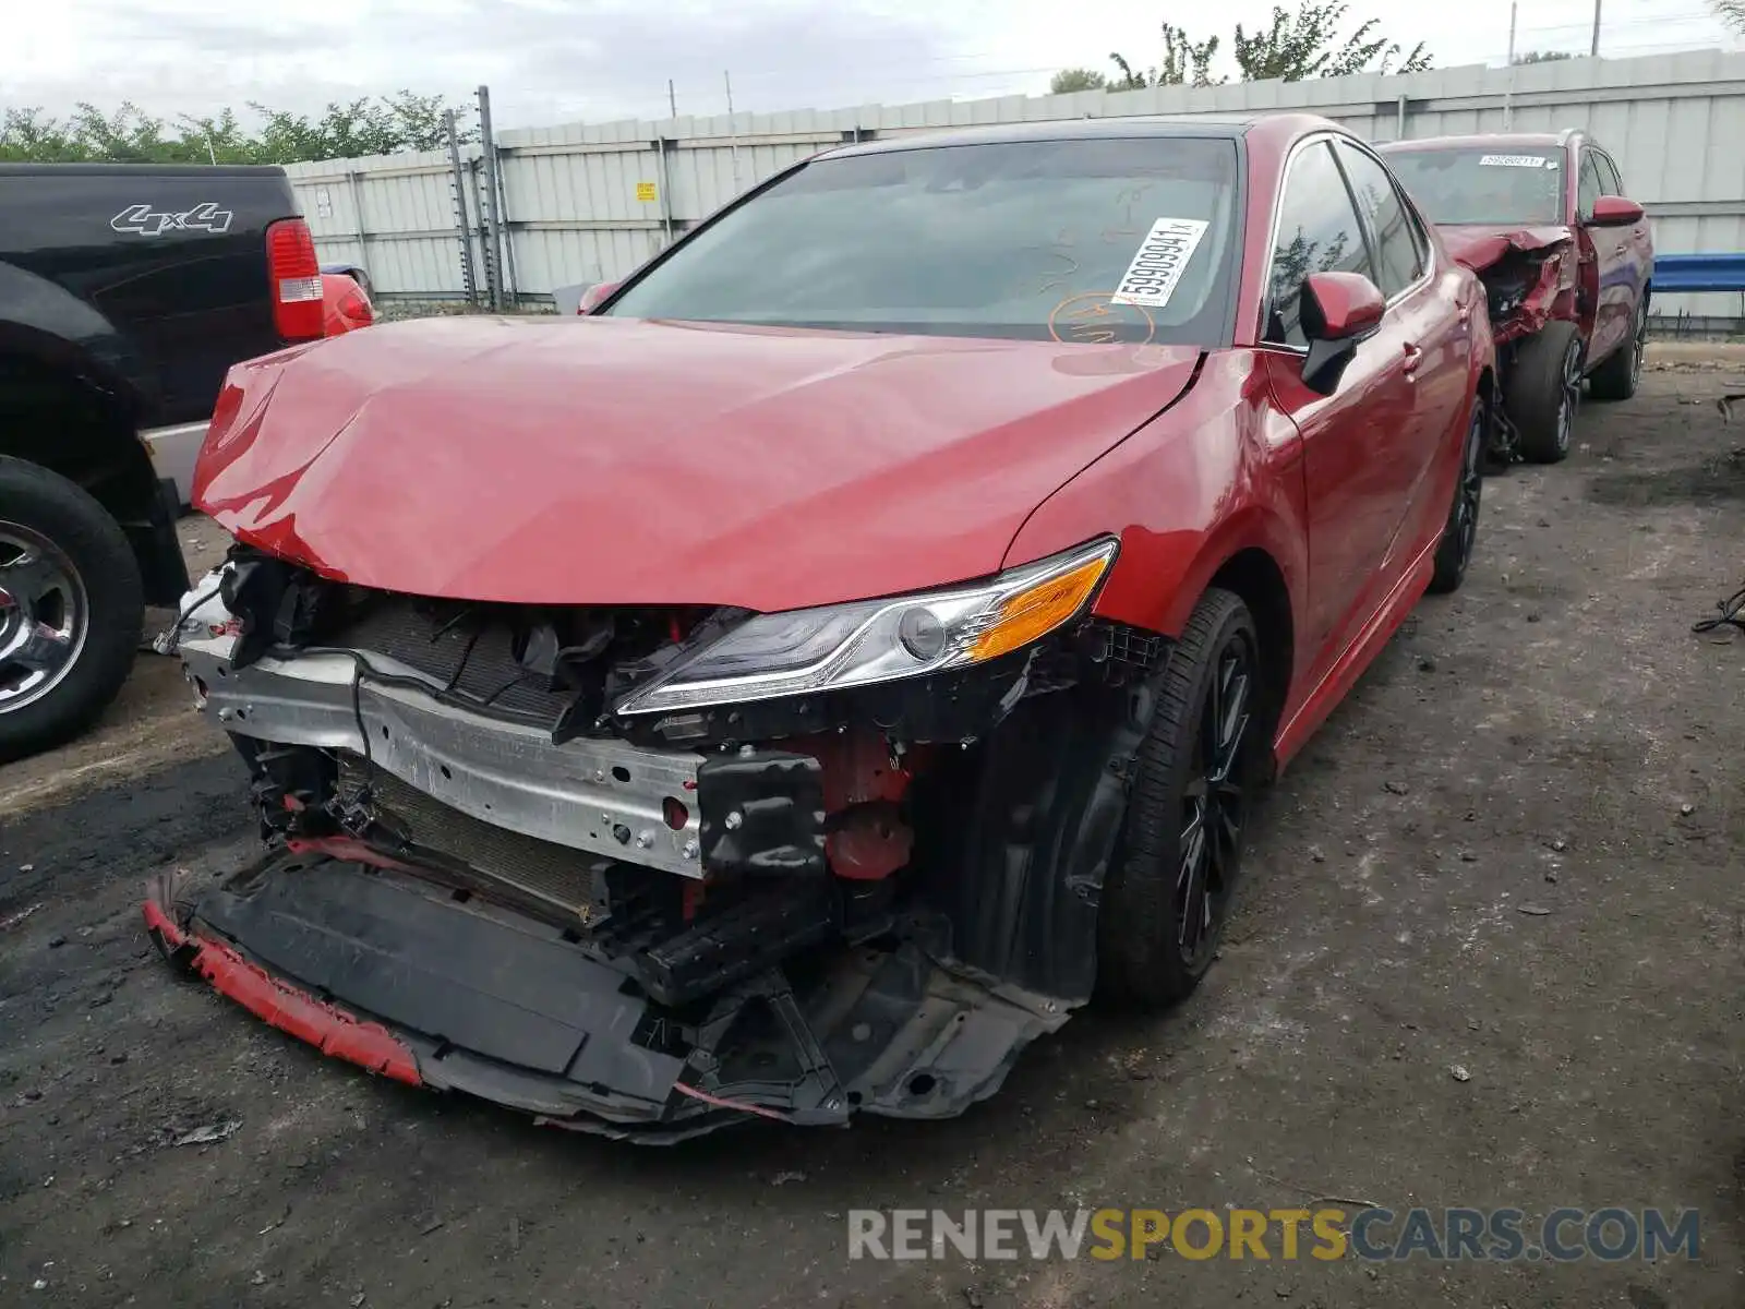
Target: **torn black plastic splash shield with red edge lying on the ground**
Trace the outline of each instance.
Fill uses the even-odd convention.
[[[330,1054],[651,1143],[756,1117],[949,1117],[1066,1019],[913,942],[831,944],[668,1009],[571,932],[316,853],[269,855],[192,897],[159,883],[145,909],[174,960]]]

